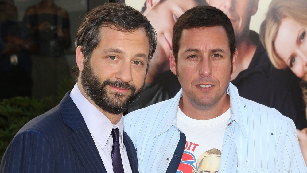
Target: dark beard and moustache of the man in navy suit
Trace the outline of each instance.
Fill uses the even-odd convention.
[[[136,88],[132,84],[122,81],[112,81],[110,79],[101,82],[95,76],[89,62],[84,64],[84,69],[81,73],[81,84],[84,92],[99,108],[114,115],[128,110],[133,101],[141,94],[144,87],[144,84],[140,88]],[[125,96],[125,94],[118,92],[108,92],[106,85],[129,89],[130,94]]]

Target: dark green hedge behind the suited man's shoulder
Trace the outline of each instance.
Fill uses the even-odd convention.
[[[0,162],[18,130],[29,120],[59,104],[74,84],[73,77],[62,81],[56,95],[48,96],[40,101],[29,97],[14,97],[0,102]]]

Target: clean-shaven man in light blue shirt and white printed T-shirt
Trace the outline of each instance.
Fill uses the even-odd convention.
[[[219,173],[307,171],[293,121],[239,97],[230,83],[237,55],[221,10],[197,6],[181,15],[170,67],[182,89],[124,117],[140,172],[192,172],[196,158],[212,148],[221,151],[214,159]]]

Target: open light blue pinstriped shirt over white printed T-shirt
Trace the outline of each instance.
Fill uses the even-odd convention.
[[[273,108],[239,97],[229,84],[231,118],[226,124],[219,173],[306,173],[293,121]],[[261,94],[261,93],[259,93]],[[124,131],[138,155],[140,172],[165,172],[177,147],[180,90],[173,99],[124,116]]]

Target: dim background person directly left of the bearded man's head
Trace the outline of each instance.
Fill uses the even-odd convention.
[[[38,51],[33,61],[33,97],[41,99],[56,93],[58,85],[70,76],[65,49],[70,47],[69,18],[54,0],[41,0],[30,6],[23,21],[34,36]]]

